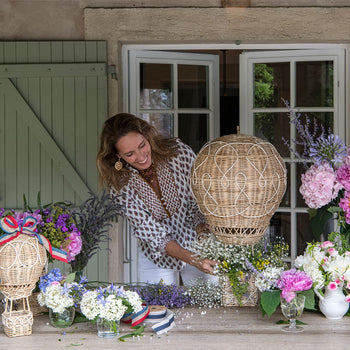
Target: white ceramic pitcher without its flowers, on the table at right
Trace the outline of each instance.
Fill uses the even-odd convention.
[[[315,293],[320,298],[319,307],[321,312],[329,320],[339,320],[347,313],[349,303],[345,301],[342,285],[338,286],[336,289],[326,288],[324,296],[316,289]]]

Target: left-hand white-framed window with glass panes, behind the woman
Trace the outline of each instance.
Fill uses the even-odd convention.
[[[220,133],[219,57],[130,50],[124,78],[126,110],[179,137],[197,153]],[[137,281],[137,244],[126,225],[125,282]]]

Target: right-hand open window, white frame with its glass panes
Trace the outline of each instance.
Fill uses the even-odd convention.
[[[289,242],[292,262],[313,237],[299,193],[305,169],[282,139],[296,138],[283,100],[345,140],[344,80],[345,52],[340,49],[245,52],[240,57],[241,133],[268,139],[286,162],[287,191],[270,233],[282,234]]]

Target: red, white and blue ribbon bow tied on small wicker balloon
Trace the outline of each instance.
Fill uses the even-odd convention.
[[[22,225],[19,225],[13,216],[7,215],[0,221],[1,229],[6,232],[6,234],[0,236],[0,245],[12,241],[20,234],[24,233],[36,237],[39,243],[44,246],[54,259],[67,263],[67,253],[64,250],[52,247],[50,241],[45,236],[35,232],[37,223],[37,219],[33,216],[27,216],[23,219]]]

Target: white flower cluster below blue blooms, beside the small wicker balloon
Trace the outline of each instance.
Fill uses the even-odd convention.
[[[46,288],[45,293],[41,291],[38,294],[38,302],[41,306],[50,308],[53,312],[64,312],[68,307],[74,305],[73,298],[60,284],[52,284]]]

